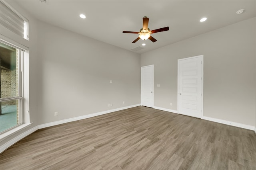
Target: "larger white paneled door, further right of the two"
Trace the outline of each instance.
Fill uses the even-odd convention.
[[[178,60],[179,113],[202,117],[203,55]]]

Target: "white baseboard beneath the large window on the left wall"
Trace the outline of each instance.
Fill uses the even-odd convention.
[[[33,127],[32,129],[29,129],[28,131],[18,135],[17,137],[13,138],[12,140],[8,141],[7,143],[5,143],[4,145],[0,146],[0,153],[4,152],[4,150],[8,149],[9,147],[11,147],[12,145],[14,145],[16,142],[20,141],[21,139],[23,139],[24,137],[30,135],[31,133],[33,133],[34,131],[38,130],[38,126]]]

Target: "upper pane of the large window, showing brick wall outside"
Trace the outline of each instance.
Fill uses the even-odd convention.
[[[18,49],[0,43],[0,98],[19,96],[19,55]]]

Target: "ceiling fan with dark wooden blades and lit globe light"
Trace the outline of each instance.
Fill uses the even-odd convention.
[[[140,32],[123,31],[123,33],[140,34],[137,39],[132,41],[132,43],[136,43],[139,39],[142,39],[142,40],[150,39],[154,43],[154,42],[156,42],[156,39],[154,39],[150,34],[169,30],[169,27],[163,27],[163,28],[154,29],[154,30],[150,31],[150,29],[148,28],[148,20],[149,20],[148,17],[146,17],[146,16],[143,17],[143,27],[142,27],[142,29],[140,29]]]

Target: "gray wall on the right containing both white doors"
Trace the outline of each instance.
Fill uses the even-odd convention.
[[[142,54],[141,66],[154,64],[154,106],[177,110],[177,60],[204,55],[204,116],[255,126],[255,21]]]

